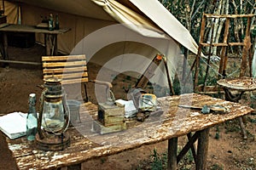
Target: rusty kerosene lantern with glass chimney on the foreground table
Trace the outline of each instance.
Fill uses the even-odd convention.
[[[40,102],[36,147],[40,150],[64,150],[70,144],[66,133],[70,114],[60,79],[49,77],[44,80]]]

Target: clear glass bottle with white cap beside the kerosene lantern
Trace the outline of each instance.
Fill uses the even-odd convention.
[[[38,116],[36,111],[36,94],[29,94],[28,112],[26,116],[26,139],[32,141],[35,139],[38,131]]]

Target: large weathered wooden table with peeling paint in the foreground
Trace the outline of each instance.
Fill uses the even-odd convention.
[[[177,162],[189,149],[194,153],[196,169],[206,169],[209,128],[253,111],[239,103],[201,94],[164,97],[159,102],[163,112],[151,114],[145,122],[128,123],[128,129],[123,132],[104,135],[91,131],[96,105],[84,105],[80,108],[81,122],[67,130],[71,136],[71,144],[66,150],[37,150],[26,138],[7,139],[9,150],[20,169],[74,169],[81,168],[81,163],[90,159],[168,139],[168,169],[177,169]],[[178,105],[222,105],[228,112],[201,114],[201,111],[181,108]],[[192,133],[193,136],[190,135]],[[188,135],[189,142],[177,155],[177,137],[183,135]],[[196,139],[197,150],[194,147]]]

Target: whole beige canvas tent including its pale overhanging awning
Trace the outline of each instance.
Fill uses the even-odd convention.
[[[143,73],[157,53],[165,54],[171,75],[181,61],[180,45],[197,53],[189,31],[157,0],[9,0],[8,21],[37,25],[41,16],[59,14],[71,31],[58,38],[67,54],[86,54],[90,61],[117,72]],[[18,8],[20,7],[20,17]],[[37,35],[44,42],[43,35]],[[162,75],[153,82],[162,82]],[[104,77],[102,77],[104,78]]]

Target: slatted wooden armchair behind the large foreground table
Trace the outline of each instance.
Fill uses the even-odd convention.
[[[88,94],[86,90],[87,82],[94,82],[106,87],[106,99],[112,84],[110,82],[102,82],[96,80],[89,80],[87,63],[84,54],[81,55],[67,55],[67,56],[42,56],[43,63],[43,78],[57,77],[61,79],[61,85],[73,85],[81,83],[81,94],[84,100],[82,105],[94,105],[88,102]],[[75,87],[77,88],[77,87]],[[96,107],[93,106],[93,107]],[[79,115],[80,120],[80,115]]]

